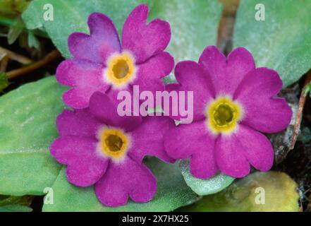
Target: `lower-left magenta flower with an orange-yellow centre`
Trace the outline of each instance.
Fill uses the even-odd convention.
[[[157,182],[142,164],[145,155],[172,162],[164,152],[163,136],[169,117],[120,117],[106,94],[96,92],[90,107],[64,110],[56,120],[60,137],[51,155],[68,165],[68,181],[92,186],[106,206],[120,206],[128,196],[138,203],[150,201]]]

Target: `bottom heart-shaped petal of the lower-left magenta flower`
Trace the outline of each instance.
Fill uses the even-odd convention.
[[[128,196],[137,202],[152,200],[157,182],[150,169],[130,157],[120,164],[111,164],[104,177],[95,184],[95,193],[105,206],[121,206]]]

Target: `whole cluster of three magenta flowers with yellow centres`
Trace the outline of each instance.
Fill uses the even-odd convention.
[[[75,32],[68,38],[72,59],[63,61],[56,79],[70,86],[64,110],[56,120],[59,138],[51,155],[67,165],[68,181],[93,186],[106,206],[152,200],[157,181],[142,162],[146,155],[166,162],[190,158],[190,172],[207,179],[221,171],[244,177],[250,165],[267,171],[274,153],[262,133],[286,128],[291,109],[275,97],[281,80],[275,71],[255,69],[251,54],[235,49],[228,59],[207,47],[199,63],[176,65],[178,83],[161,78],[173,70],[173,57],[164,52],[171,39],[170,25],[147,23],[148,7],[136,7],[123,25],[120,42],[114,23],[102,13],[88,19],[90,35]],[[193,123],[175,126],[182,116],[120,116],[121,90],[184,91],[194,94]],[[262,133],[260,133],[262,132]]]

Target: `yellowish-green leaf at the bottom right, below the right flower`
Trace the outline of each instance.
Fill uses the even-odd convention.
[[[298,212],[297,184],[283,172],[255,172],[183,211]]]

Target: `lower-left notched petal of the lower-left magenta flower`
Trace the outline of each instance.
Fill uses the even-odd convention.
[[[108,159],[99,157],[96,140],[83,136],[63,136],[51,144],[51,155],[68,165],[68,181],[77,186],[91,186],[106,171]]]

